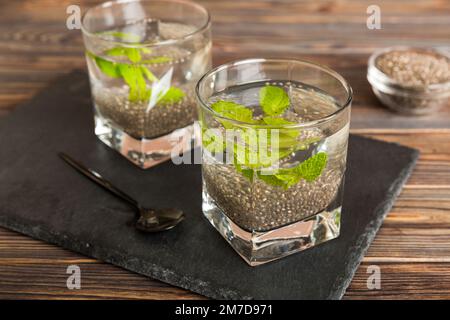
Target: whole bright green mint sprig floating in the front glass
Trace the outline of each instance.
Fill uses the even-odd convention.
[[[211,109],[220,116],[237,121],[247,121],[250,124],[259,124],[252,128],[240,128],[232,123],[227,123],[226,120],[221,121],[226,129],[237,133],[232,135],[233,139],[237,136],[244,138],[242,144],[239,144],[238,141],[230,142],[226,136],[223,139],[223,147],[228,147],[227,151],[233,153],[233,164],[238,172],[243,173],[249,179],[258,177],[269,185],[281,186],[285,189],[297,184],[301,179],[315,181],[320,177],[327,165],[328,155],[326,152],[318,152],[288,168],[267,169],[283,161],[288,161],[288,158],[296,151],[304,150],[320,140],[319,136],[316,139],[302,139],[299,137],[300,130],[283,127],[295,125],[295,122],[283,118],[290,104],[286,91],[273,85],[265,85],[259,90],[259,105],[263,113],[262,118],[259,117],[259,119],[254,118],[251,108],[233,101],[219,100],[211,104]],[[204,146],[207,150],[211,149],[211,142],[217,141],[220,134],[212,136],[205,134]],[[245,141],[245,137],[249,134],[254,139]],[[230,142],[228,146],[226,142]],[[238,150],[239,148],[242,150]],[[215,153],[214,150],[211,151]],[[223,150],[219,150],[219,152],[223,152]],[[268,154],[270,155],[266,156]]]

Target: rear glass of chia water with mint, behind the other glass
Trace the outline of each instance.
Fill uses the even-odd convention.
[[[195,146],[194,87],[211,66],[209,14],[185,0],[125,0],[82,19],[95,134],[141,168]]]

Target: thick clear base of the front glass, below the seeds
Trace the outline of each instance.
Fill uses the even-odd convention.
[[[257,266],[337,238],[341,207],[280,228],[250,232],[229,219],[204,189],[203,214],[250,266]]]

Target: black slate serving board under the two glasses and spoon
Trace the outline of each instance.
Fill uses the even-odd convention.
[[[0,225],[213,298],[339,299],[418,152],[351,136],[341,236],[249,267],[201,213],[200,167],[141,170],[99,142],[87,76],[73,72],[0,118]],[[171,232],[133,229],[133,212],[58,157],[65,151],[147,205],[182,208]]]

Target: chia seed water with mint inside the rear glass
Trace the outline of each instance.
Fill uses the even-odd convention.
[[[132,37],[139,35],[142,28],[137,22],[119,30],[123,29],[127,31],[124,33],[126,36]],[[177,39],[194,31],[194,26],[160,22],[154,41]],[[121,35],[123,32],[113,30],[106,34],[117,33]],[[195,81],[206,72],[210,60],[210,42],[207,39],[202,40],[203,42],[199,40],[191,46],[171,45],[139,49],[129,49],[126,46],[111,48],[108,43],[99,42],[96,46],[99,53],[87,54],[97,115],[102,117],[103,122],[136,139],[162,136],[192,124],[197,118]],[[138,56],[137,59],[135,55]],[[128,78],[115,76],[114,71],[108,69],[110,65],[119,68],[128,66],[128,70],[133,73]],[[124,72],[122,74],[127,75]],[[151,105],[150,93],[131,96],[133,81],[137,89],[149,92],[155,84],[161,84],[161,97],[164,91],[174,88],[176,97],[166,99],[167,101],[162,98]]]

